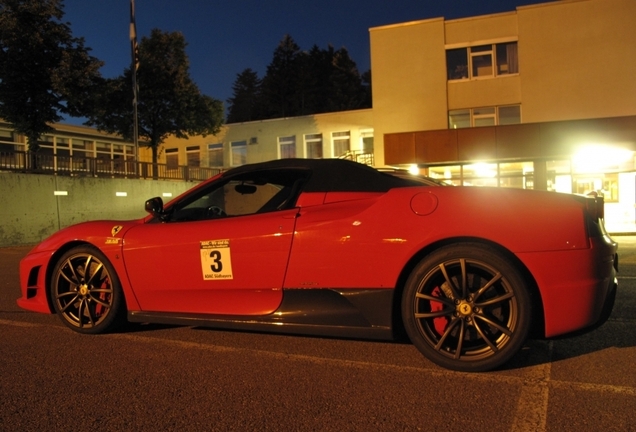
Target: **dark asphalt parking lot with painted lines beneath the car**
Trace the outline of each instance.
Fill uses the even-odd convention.
[[[505,368],[441,369],[407,343],[195,327],[78,335],[20,310],[0,249],[0,430],[636,431],[636,237],[610,320]]]

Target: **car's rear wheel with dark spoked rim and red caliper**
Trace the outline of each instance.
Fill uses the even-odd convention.
[[[495,249],[477,243],[445,246],[407,279],[402,320],[411,342],[432,362],[484,372],[506,363],[530,328],[528,286]]]

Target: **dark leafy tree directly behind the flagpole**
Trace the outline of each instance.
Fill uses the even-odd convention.
[[[169,135],[211,135],[223,122],[222,103],[201,94],[190,78],[186,45],[181,33],[159,29],[139,44],[139,138],[152,149],[155,164],[159,146]],[[102,93],[87,124],[133,139],[132,71],[106,80]]]

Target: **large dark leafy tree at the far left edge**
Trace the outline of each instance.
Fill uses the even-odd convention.
[[[0,117],[31,152],[62,114],[90,114],[101,80],[102,62],[63,16],[61,0],[0,0]]]

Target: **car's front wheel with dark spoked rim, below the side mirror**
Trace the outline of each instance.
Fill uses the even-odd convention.
[[[110,332],[126,321],[117,274],[93,246],[78,246],[62,255],[51,275],[50,290],[55,312],[79,333]]]

